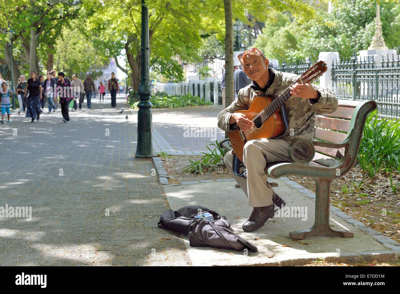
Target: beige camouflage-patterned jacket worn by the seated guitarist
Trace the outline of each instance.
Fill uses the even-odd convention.
[[[276,98],[281,92],[288,88],[299,76],[292,73],[278,72],[271,68],[275,73],[274,82],[267,89],[266,93],[252,89],[250,85],[240,89],[234,102],[218,114],[218,127],[224,131],[232,132],[238,127],[236,122],[229,124],[230,116],[236,110],[246,110],[252,104],[255,95],[270,95]],[[296,138],[312,139],[314,135],[315,114],[332,113],[338,107],[338,100],[335,94],[329,90],[312,85],[319,93],[318,101],[314,99],[303,99],[290,96],[285,102],[285,112],[288,118],[288,130],[282,138],[294,140]],[[290,135],[293,136],[290,136]]]

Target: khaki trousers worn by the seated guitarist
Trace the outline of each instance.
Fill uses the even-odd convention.
[[[288,139],[256,139],[246,142],[243,148],[244,166],[246,177],[236,176],[232,171],[232,150],[224,156],[224,163],[233,178],[248,198],[248,205],[261,207],[271,205],[274,190],[267,181],[266,164],[276,161],[292,160],[288,156],[288,147],[292,140]]]

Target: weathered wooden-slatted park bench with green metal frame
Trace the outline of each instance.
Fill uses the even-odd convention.
[[[330,184],[354,166],[366,117],[376,109],[376,102],[341,99],[338,102],[335,112],[316,114],[314,140],[296,139],[289,145],[288,155],[292,162],[271,162],[265,168],[271,178],[293,174],[314,178],[316,182],[314,225],[306,230],[290,232],[292,239],[354,237],[351,232],[335,230],[329,225]],[[220,146],[226,151],[232,150],[229,139],[222,140]]]

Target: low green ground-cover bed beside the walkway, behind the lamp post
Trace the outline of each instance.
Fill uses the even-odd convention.
[[[204,98],[193,96],[191,94],[186,95],[166,95],[166,96],[151,96],[150,102],[153,104],[153,108],[175,108],[184,106],[200,106],[200,105],[212,105],[210,101],[206,101]],[[137,108],[138,102],[130,104],[130,107]]]

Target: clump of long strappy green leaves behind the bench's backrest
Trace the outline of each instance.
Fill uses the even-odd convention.
[[[376,110],[369,114],[357,160],[370,177],[382,168],[400,170],[400,122],[379,119]]]

